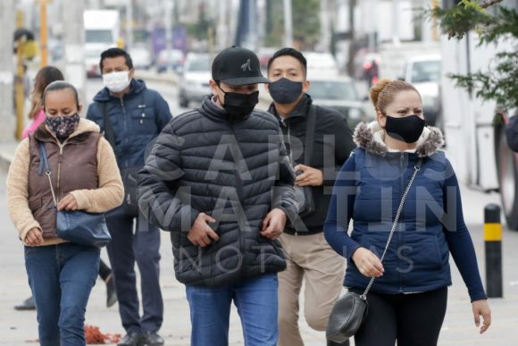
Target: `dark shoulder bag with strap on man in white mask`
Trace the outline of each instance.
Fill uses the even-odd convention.
[[[108,117],[107,104],[103,104],[103,122],[104,122],[104,136],[115,151],[115,133],[113,132],[112,122]],[[122,208],[124,213],[129,216],[138,216],[138,171],[142,166],[132,166],[121,169],[121,179],[124,185],[124,200],[122,201]]]

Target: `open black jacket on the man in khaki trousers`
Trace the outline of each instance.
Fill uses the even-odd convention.
[[[304,164],[307,115],[312,103],[311,97],[305,95],[286,119],[280,118],[273,104],[269,109],[269,112],[274,114],[281,123],[280,127],[286,136],[288,154],[291,151],[295,161],[294,166]],[[344,118],[333,109],[315,106],[313,155],[309,166],[322,170],[324,181],[323,186],[312,187],[316,206],[314,213],[302,219],[304,224],[297,224],[297,227],[290,224],[287,226],[286,232],[297,232],[299,235],[323,232],[336,174],[346,162],[351,150],[355,148],[353,133]]]

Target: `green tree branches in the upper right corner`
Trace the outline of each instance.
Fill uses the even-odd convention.
[[[457,86],[475,92],[477,97],[495,100],[498,105],[512,109],[518,107],[518,13],[499,4],[501,2],[462,0],[451,8],[430,10],[430,14],[438,19],[449,39],[464,38],[468,31],[474,30],[480,38],[480,46],[511,40],[513,50],[497,53],[488,72],[449,77]]]

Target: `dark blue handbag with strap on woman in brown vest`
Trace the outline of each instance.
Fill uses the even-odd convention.
[[[39,142],[40,168],[39,174],[43,172],[45,165],[46,176],[50,184],[54,206],[57,209],[57,199],[55,198],[54,186],[52,184],[50,165],[46,156],[46,148],[43,142]],[[102,248],[112,237],[106,226],[104,214],[88,213],[81,210],[69,211],[58,210],[56,216],[55,232],[57,236],[65,241],[71,241],[81,245]]]

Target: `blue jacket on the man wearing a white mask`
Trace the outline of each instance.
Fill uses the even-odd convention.
[[[94,97],[87,119],[104,131],[104,109],[112,122],[115,155],[119,168],[144,165],[144,152],[171,121],[169,105],[158,92],[146,88],[143,80],[131,80],[130,91],[122,98],[114,97],[106,88]]]

